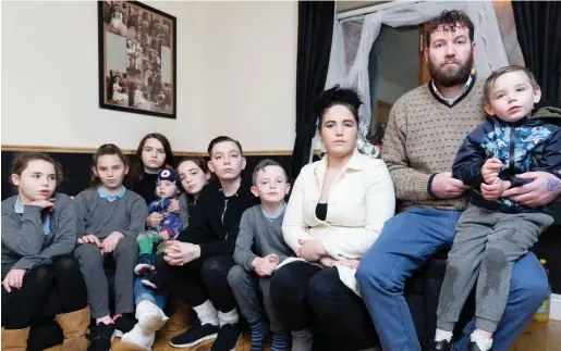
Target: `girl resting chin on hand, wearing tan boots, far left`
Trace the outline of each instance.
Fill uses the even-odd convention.
[[[62,170],[45,153],[23,153],[12,164],[11,180],[17,195],[2,201],[2,350],[60,343],[53,334],[29,337],[32,319],[54,315],[64,334],[62,350],[85,351],[89,309],[72,256],[76,213],[72,200],[56,192]]]

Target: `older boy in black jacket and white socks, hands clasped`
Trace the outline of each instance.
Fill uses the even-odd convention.
[[[208,166],[217,179],[200,192],[192,223],[170,240],[158,258],[161,283],[195,310],[199,324],[171,339],[187,348],[215,339],[212,351],[234,350],[242,336],[228,272],[245,210],[257,203],[251,179],[243,179],[245,158],[239,141],[218,137],[208,147]]]

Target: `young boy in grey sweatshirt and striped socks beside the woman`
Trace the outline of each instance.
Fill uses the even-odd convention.
[[[272,331],[271,351],[289,350],[286,328],[279,322],[270,299],[270,276],[275,268],[292,255],[284,243],[281,226],[286,203],[284,197],[290,185],[284,168],[272,160],[263,160],[253,173],[252,192],[261,203],[247,209],[240,222],[235,241],[234,261],[228,283],[243,316],[252,331],[252,351],[261,350],[263,342]],[[265,312],[258,294],[263,296]]]

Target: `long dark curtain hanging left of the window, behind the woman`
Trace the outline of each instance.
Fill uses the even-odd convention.
[[[296,61],[296,139],[291,177],[309,161],[316,116],[314,99],[324,91],[333,36],[334,1],[298,2],[298,57]]]

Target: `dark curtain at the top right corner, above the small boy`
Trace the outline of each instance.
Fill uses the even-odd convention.
[[[512,1],[526,67],[541,87],[538,106],[561,106],[561,2]]]

